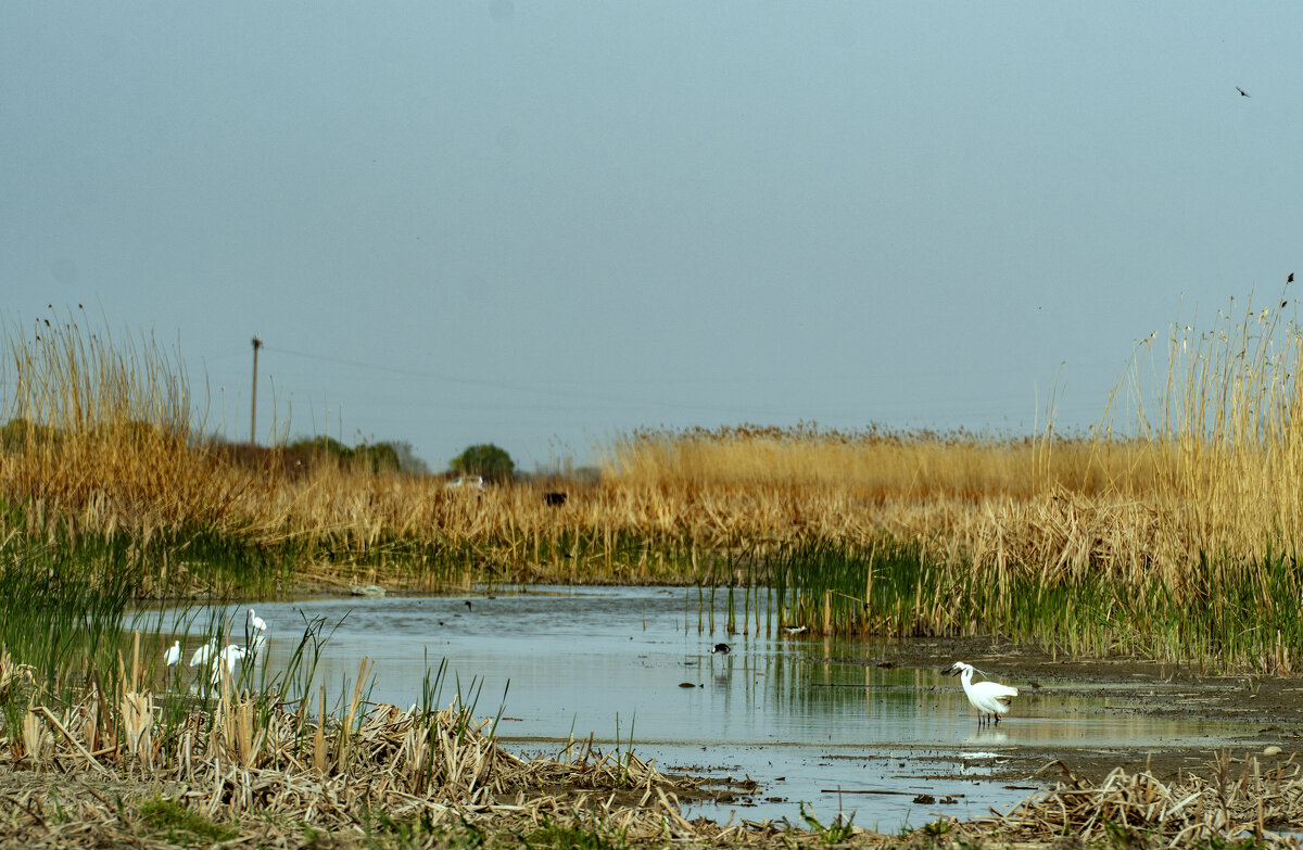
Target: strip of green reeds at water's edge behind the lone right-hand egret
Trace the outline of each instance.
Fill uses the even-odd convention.
[[[778,624],[814,635],[1002,636],[1055,654],[1261,673],[1296,670],[1303,647],[1303,564],[1280,551],[1259,561],[1203,554],[1179,587],[1157,571],[1126,580],[1102,568],[977,570],[929,561],[917,545],[891,540],[868,548],[803,542],[778,549],[766,563],[771,588],[743,594],[757,631],[761,610],[769,621],[773,606]],[[713,630],[722,605],[731,631],[736,596],[731,588],[722,601],[715,596],[698,592],[698,627]],[[743,611],[741,622],[748,617]]]

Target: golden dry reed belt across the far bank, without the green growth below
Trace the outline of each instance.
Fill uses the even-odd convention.
[[[1158,571],[1181,588],[1201,554],[1293,553],[1303,528],[1303,342],[1272,312],[1143,343],[1089,434],[637,432],[560,508],[542,485],[468,494],[328,462],[236,463],[199,437],[175,355],[89,325],[9,332],[0,495],[27,533],[203,535],[280,553],[291,572],[427,584],[450,563],[464,578],[691,581],[710,553],[887,536],[977,570]]]

